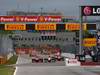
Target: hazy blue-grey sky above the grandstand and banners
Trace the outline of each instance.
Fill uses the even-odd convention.
[[[100,5],[100,0],[0,0],[0,15],[6,11],[60,11],[64,15],[78,16],[79,6]]]

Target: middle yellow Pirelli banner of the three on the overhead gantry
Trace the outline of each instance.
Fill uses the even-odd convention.
[[[56,30],[56,24],[55,23],[36,24],[35,30]]]

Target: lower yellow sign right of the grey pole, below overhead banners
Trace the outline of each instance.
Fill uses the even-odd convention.
[[[83,40],[83,45],[85,47],[92,47],[92,46],[96,46],[96,38],[85,38]]]

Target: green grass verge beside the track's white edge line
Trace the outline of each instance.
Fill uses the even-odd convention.
[[[17,56],[11,57],[6,64],[0,65],[0,75],[13,75],[15,68],[13,66],[7,66],[15,64]]]

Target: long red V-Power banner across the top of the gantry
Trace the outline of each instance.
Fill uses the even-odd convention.
[[[0,16],[0,22],[61,22],[61,16]]]

